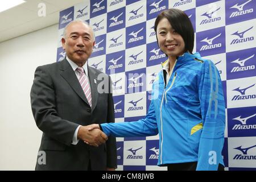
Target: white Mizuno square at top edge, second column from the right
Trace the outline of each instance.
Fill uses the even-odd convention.
[[[217,1],[196,9],[197,32],[225,26],[225,1]]]

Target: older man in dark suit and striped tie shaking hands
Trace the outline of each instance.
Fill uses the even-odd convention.
[[[36,68],[31,88],[32,113],[43,131],[36,170],[113,170],[115,138],[87,127],[114,122],[111,79],[86,63],[93,30],[76,20],[65,27],[61,41],[67,57]]]

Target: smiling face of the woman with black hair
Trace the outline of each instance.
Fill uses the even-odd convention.
[[[158,23],[156,29],[158,45],[160,49],[176,60],[177,56],[181,56],[185,50],[185,43],[180,34],[178,34],[168,22],[168,19],[163,18]]]

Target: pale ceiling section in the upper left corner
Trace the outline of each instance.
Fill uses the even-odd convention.
[[[59,23],[59,12],[61,10],[89,0],[25,1],[26,3],[0,13],[0,42]],[[46,5],[46,16],[38,16],[39,3]]]

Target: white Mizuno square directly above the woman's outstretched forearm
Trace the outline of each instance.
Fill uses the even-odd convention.
[[[125,117],[146,115],[146,92],[125,95]]]

